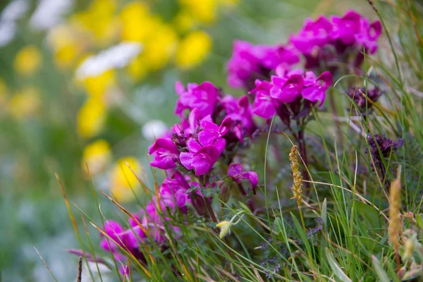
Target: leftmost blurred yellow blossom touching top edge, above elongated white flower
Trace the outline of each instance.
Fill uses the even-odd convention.
[[[96,43],[108,44],[116,37],[119,24],[114,17],[116,3],[113,0],[94,0],[90,6],[71,18],[71,23],[82,31],[94,35]]]

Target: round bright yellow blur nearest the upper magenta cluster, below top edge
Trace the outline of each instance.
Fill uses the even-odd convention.
[[[180,68],[192,68],[204,60],[211,48],[212,39],[206,32],[190,32],[178,46],[176,64]]]

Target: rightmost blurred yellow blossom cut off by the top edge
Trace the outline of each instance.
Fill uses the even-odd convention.
[[[187,8],[200,23],[213,23],[216,20],[217,0],[179,0],[179,4]]]

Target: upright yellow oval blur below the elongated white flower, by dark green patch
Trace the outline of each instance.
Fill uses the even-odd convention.
[[[92,97],[78,112],[78,133],[84,138],[99,134],[106,122],[106,106],[102,99]]]

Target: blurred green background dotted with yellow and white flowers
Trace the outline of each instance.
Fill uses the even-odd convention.
[[[78,248],[54,173],[82,240],[77,204],[119,216],[142,197],[125,162],[154,183],[147,147],[176,123],[177,80],[209,80],[226,92],[233,39],[284,43],[307,17],[360,0],[13,0],[0,4],[0,273],[2,281],[75,281]],[[89,225],[89,224],[88,224]],[[87,226],[93,244],[94,228]]]

